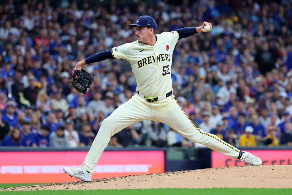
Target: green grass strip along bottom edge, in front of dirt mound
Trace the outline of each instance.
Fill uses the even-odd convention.
[[[292,189],[266,189],[266,188],[207,188],[207,189],[179,189],[179,188],[159,188],[159,189],[146,189],[146,190],[41,190],[41,191],[22,191],[22,192],[0,192],[2,195],[194,195],[194,194],[204,194],[204,195],[226,195],[226,194],[236,194],[236,195],[286,195],[292,194]]]

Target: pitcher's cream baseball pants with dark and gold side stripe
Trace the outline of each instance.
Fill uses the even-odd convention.
[[[197,128],[179,106],[174,95],[161,100],[158,98],[158,101],[155,102],[147,102],[143,97],[135,94],[129,101],[104,119],[83,163],[87,171],[94,172],[110,137],[141,120],[163,122],[190,141],[203,144],[233,159],[236,159],[240,153],[237,148],[227,144],[217,136]]]

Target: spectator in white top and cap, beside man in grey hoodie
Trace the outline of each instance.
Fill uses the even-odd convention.
[[[68,137],[68,147],[85,146],[84,143],[79,142],[78,132],[73,129],[74,122],[70,119],[66,120],[65,136]]]

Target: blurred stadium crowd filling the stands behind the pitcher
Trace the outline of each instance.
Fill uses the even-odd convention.
[[[135,77],[127,61],[108,59],[84,67],[96,78],[85,96],[66,82],[78,61],[135,41],[128,24],[147,14],[156,34],[213,24],[173,52],[174,95],[197,127],[235,146],[292,146],[292,4],[268,2],[158,0],[131,10],[114,0],[1,4],[0,145],[90,145],[103,119],[136,93]],[[193,146],[146,120],[109,144]]]

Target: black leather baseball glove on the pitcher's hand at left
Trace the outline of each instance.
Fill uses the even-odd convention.
[[[82,94],[86,94],[87,88],[90,87],[94,77],[92,74],[86,72],[85,70],[75,70],[72,71],[72,81],[68,83],[72,83],[73,87],[81,92]]]

